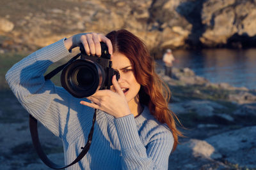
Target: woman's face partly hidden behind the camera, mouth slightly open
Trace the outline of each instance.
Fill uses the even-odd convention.
[[[126,100],[129,104],[138,104],[138,92],[140,90],[140,84],[136,80],[133,67],[130,60],[122,53],[115,52],[113,53],[112,67],[120,73],[120,79],[118,84],[124,92]],[[111,87],[113,90],[113,86]]]

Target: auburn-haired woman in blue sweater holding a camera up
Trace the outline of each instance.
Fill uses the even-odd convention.
[[[88,55],[100,56],[100,41],[108,46],[113,68],[120,72],[118,81],[113,76],[111,90],[81,100],[44,80],[47,67],[76,46],[83,44]],[[155,73],[145,45],[131,32],[61,39],[15,64],[6,80],[24,108],[62,139],[66,164],[81,152],[93,110],[98,110],[90,150],[68,169],[168,169],[168,157],[180,136],[175,115],[168,110],[170,91]]]

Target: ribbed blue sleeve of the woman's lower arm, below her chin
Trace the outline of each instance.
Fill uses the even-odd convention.
[[[173,145],[170,131],[164,127],[156,130],[148,126],[147,132],[150,134],[152,131],[154,135],[145,147],[133,115],[116,118],[115,126],[121,145],[122,169],[168,169],[168,157]]]

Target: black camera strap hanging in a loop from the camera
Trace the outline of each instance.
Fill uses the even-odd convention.
[[[77,54],[75,57],[70,59],[66,64],[63,64],[62,66],[57,67],[56,69],[51,71],[51,73],[49,73],[49,74],[47,74],[45,76],[45,80],[51,79],[52,76],[54,76],[58,72],[60,72],[65,66],[67,66],[67,64],[69,64],[70,62],[73,62],[74,60],[76,60],[77,57],[79,57],[80,55],[81,55],[81,53]],[[87,140],[86,145],[84,147],[81,147],[82,151],[81,151],[81,153],[79,153],[77,158],[72,163],[70,163],[68,165],[65,165],[65,166],[61,166],[61,165],[55,164],[54,162],[49,160],[47,155],[44,153],[44,151],[42,149],[42,145],[40,144],[40,140],[38,138],[37,120],[32,115],[29,115],[29,130],[30,130],[30,134],[31,134],[33,145],[34,145],[35,150],[38,153],[38,156],[40,157],[40,159],[47,166],[51,167],[52,169],[64,169],[66,167],[72,166],[72,165],[76,164],[77,162],[79,162],[79,160],[81,160],[84,157],[84,155],[86,155],[86,153],[88,152],[88,150],[90,148],[90,145],[92,143],[92,136],[93,136],[93,130],[94,130],[94,124],[95,124],[95,120],[96,120],[96,115],[97,115],[97,110],[95,109],[94,110],[94,115],[93,115],[93,120],[92,120],[92,127],[90,129],[90,133],[88,135],[88,140]]]

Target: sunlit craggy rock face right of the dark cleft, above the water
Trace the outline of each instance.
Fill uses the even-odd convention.
[[[254,42],[255,7],[255,1],[205,1],[202,8],[205,31],[200,37],[201,43],[211,47],[226,45],[243,48],[248,45],[248,41]],[[244,41],[243,38],[247,40]]]

